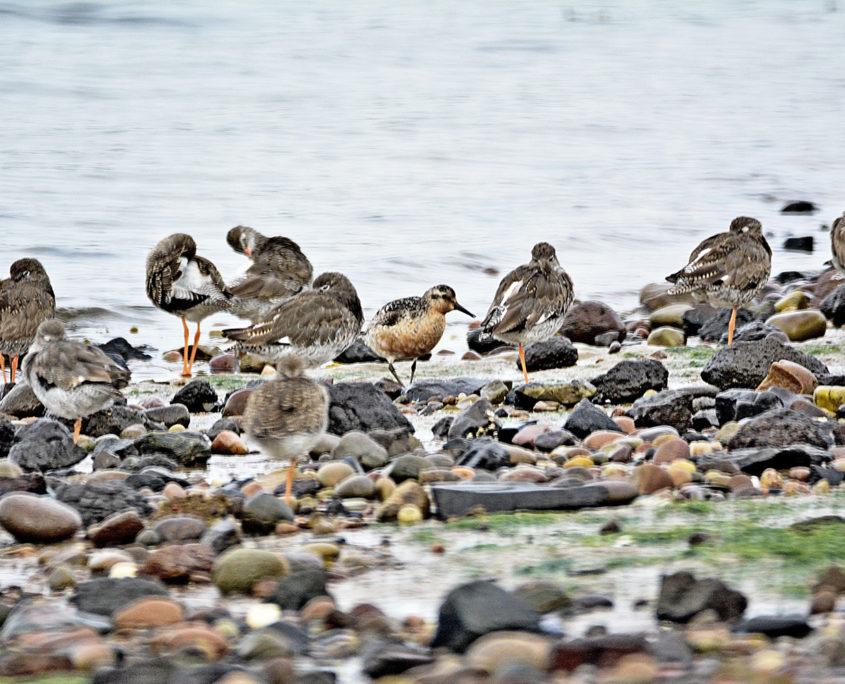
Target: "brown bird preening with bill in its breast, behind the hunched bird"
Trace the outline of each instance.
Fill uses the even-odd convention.
[[[268,238],[248,226],[235,226],[226,241],[253,262],[244,277],[229,287],[235,296],[232,313],[236,316],[258,323],[311,283],[311,262],[289,238]]]

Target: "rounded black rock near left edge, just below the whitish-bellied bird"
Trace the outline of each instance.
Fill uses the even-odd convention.
[[[85,449],[74,445],[64,425],[46,418],[20,428],[9,449],[9,460],[27,471],[67,468],[87,455]]]

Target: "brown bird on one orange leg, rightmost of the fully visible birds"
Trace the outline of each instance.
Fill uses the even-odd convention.
[[[674,283],[669,294],[690,292],[714,306],[733,309],[728,344],[733,342],[736,310],[763,289],[772,270],[772,250],[757,219],[738,216],[726,233],[704,240],[690,254],[689,263],[666,276]]]

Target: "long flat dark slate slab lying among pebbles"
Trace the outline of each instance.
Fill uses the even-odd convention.
[[[431,493],[437,505],[437,515],[443,519],[463,515],[475,506],[483,506],[488,513],[576,510],[623,505],[636,497],[636,492],[633,492],[629,499],[619,500],[600,483],[549,487],[516,482],[458,482],[434,485]]]

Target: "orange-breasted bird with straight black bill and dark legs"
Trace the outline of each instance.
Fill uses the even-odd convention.
[[[394,299],[373,316],[365,332],[367,344],[376,354],[387,359],[387,367],[402,385],[394,361],[413,361],[411,384],[417,370],[417,359],[428,354],[443,337],[446,314],[461,311],[472,316],[458,304],[455,291],[448,285],[435,285],[422,297]]]

